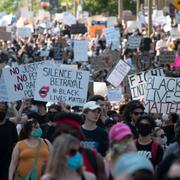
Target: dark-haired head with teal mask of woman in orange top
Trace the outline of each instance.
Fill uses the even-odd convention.
[[[23,126],[20,131],[19,139],[27,138],[39,138],[42,135],[42,129],[40,128],[39,123],[34,119],[29,119]]]

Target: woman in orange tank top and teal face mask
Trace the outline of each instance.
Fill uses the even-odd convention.
[[[41,139],[42,130],[39,123],[29,120],[20,132],[20,141],[16,144],[9,168],[9,180],[31,178],[38,180],[44,163],[48,161],[51,144]]]

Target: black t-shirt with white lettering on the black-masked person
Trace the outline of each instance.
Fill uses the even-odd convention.
[[[157,152],[156,152],[156,159],[155,161],[153,161],[152,159],[152,143],[149,143],[147,145],[142,145],[142,144],[139,144],[139,142],[137,141],[136,142],[136,147],[137,147],[137,150],[138,150],[138,154],[142,155],[142,156],[145,156],[147,159],[149,159],[152,164],[154,166],[158,165],[161,160],[162,160],[162,157],[163,157],[163,148],[161,147],[160,144],[157,144],[158,147],[157,147]]]

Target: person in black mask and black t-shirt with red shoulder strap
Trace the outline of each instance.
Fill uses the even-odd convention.
[[[155,167],[163,157],[162,146],[152,137],[155,121],[149,115],[143,115],[137,120],[136,126],[139,133],[136,140],[138,154],[149,159]]]

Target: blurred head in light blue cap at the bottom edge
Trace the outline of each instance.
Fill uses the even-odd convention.
[[[153,180],[154,169],[152,163],[137,152],[123,154],[116,162],[114,176],[120,180],[121,176],[128,174],[132,180]]]

